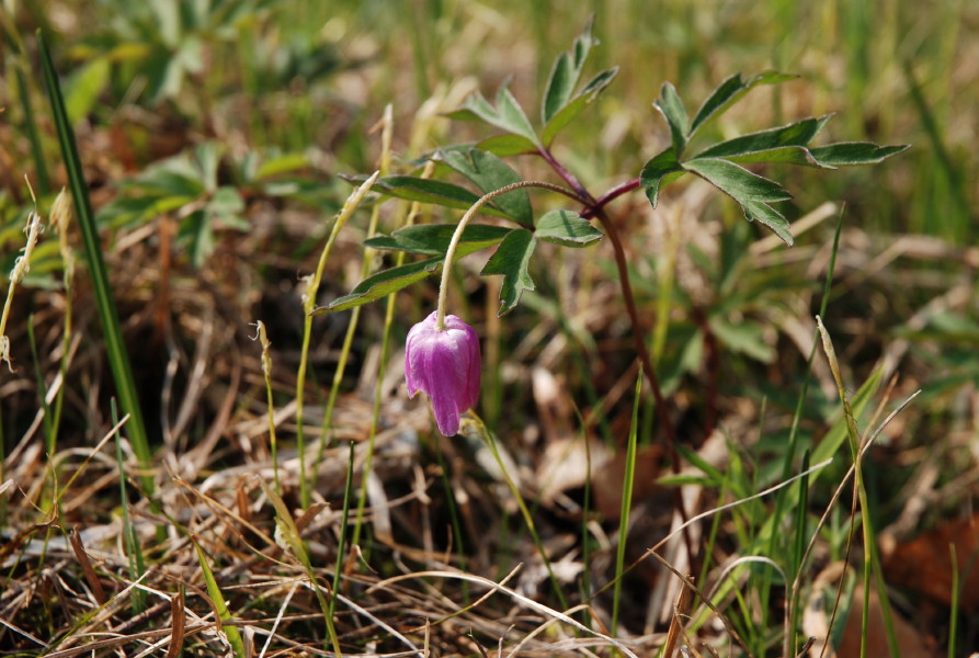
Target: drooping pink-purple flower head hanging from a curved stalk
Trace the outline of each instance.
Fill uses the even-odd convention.
[[[409,397],[429,394],[439,431],[452,436],[459,416],[479,401],[479,337],[456,316],[445,316],[445,330],[439,331],[436,317],[433,311],[408,332],[405,378]]]

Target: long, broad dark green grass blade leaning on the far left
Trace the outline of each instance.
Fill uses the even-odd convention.
[[[61,157],[65,160],[65,169],[68,172],[68,183],[71,195],[75,198],[75,211],[78,214],[78,223],[81,226],[81,235],[84,241],[86,257],[89,261],[89,273],[92,277],[92,290],[95,294],[95,304],[99,308],[99,317],[102,321],[102,331],[105,336],[105,350],[109,356],[109,365],[123,411],[129,415],[129,440],[133,450],[139,460],[143,488],[148,495],[155,492],[150,466],[152,454],[149,447],[149,439],[146,433],[146,423],[143,420],[143,409],[139,406],[139,396],[136,393],[136,383],[133,377],[133,367],[129,365],[129,356],[123,343],[123,332],[119,325],[118,313],[112,296],[112,287],[109,283],[109,274],[105,270],[105,261],[102,258],[102,247],[99,241],[99,232],[95,227],[95,216],[92,212],[92,202],[82,172],[81,159],[78,156],[78,145],[75,141],[75,133],[68,121],[68,111],[65,109],[65,99],[58,82],[55,65],[44,33],[37,31],[37,45],[41,49],[44,80],[47,83],[48,98],[52,104],[52,114],[55,127],[58,132],[58,143],[61,146]]]

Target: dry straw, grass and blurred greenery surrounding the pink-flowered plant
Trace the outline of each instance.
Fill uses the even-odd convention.
[[[912,148],[868,168],[766,169],[795,196],[782,204],[792,248],[694,180],[656,211],[641,192],[610,206],[667,409],[636,395],[607,245],[538,259],[536,292],[503,318],[499,281],[476,275],[486,257],[464,260],[452,308],[483,339],[479,412],[494,460],[478,428],[441,439],[426,401],[407,399],[403,339],[434,308],[434,277],[388,315],[382,300],[357,320],[316,316],[309,343],[304,277],[352,191],[342,175],[417,173],[425,152],[489,137],[445,116],[475,90],[492,98],[509,79],[537,106],[592,13],[590,72],[621,70],[554,151],[593,191],[635,178],[670,143],[651,106],[664,81],[696,107],[735,72],[798,73],[752,91],[713,136],[838,113],[826,141]],[[840,656],[862,639],[867,655],[896,655],[880,622],[891,613],[899,655],[979,646],[977,3],[92,0],[4,2],[0,16],[0,271],[22,256],[29,213],[64,214],[53,203],[72,169],[39,30],[150,451],[132,422],[111,432],[123,393],[78,224],[64,240],[47,230],[0,330],[13,366],[0,375],[4,650],[778,656],[787,634],[792,651],[813,636],[818,655],[829,635]],[[554,179],[538,160],[512,164]],[[551,201],[534,196],[538,209]],[[395,263],[363,242],[372,222],[397,226],[399,204],[372,195],[350,216],[318,303]],[[424,207],[418,220],[459,214]],[[864,439],[922,392],[867,450],[864,506],[850,504],[845,415],[816,329],[823,303]],[[658,413],[681,439],[681,476]],[[832,464],[749,500],[804,472],[807,450]],[[300,464],[315,473],[305,491]],[[686,604],[648,552],[678,527],[679,498],[687,517],[744,501],[657,549],[694,577]],[[889,587],[868,594],[862,631],[866,537]],[[618,546],[635,563],[621,578]],[[506,591],[482,580],[505,578]],[[683,633],[671,636],[674,619]]]

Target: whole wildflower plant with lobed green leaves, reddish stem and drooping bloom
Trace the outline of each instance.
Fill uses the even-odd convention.
[[[432,353],[436,350],[434,345],[442,341],[446,349],[445,354],[448,353],[452,341],[447,337],[440,339],[439,332],[442,331],[441,318],[445,317],[445,291],[449,279],[448,270],[454,258],[496,247],[494,253],[480,273],[503,277],[499,311],[502,316],[513,310],[524,291],[535,288],[530,264],[540,242],[582,248],[593,246],[603,237],[607,237],[615,258],[625,309],[634,328],[636,354],[651,384],[657,406],[662,407],[664,399],[657,379],[657,371],[646,345],[644,332],[639,330],[639,317],[629,280],[628,258],[607,206],[625,194],[641,190],[654,208],[667,185],[685,174],[693,174],[733,198],[749,222],[758,222],[767,227],[786,245],[792,246],[789,220],[775,206],[792,198],[792,194],[777,182],[751,171],[747,166],[788,163],[818,169],[838,169],[878,163],[907,148],[906,145],[878,146],[866,141],[813,146],[811,141],[830,120],[830,116],[822,116],[741,135],[694,151],[692,144],[702,128],[730,109],[749,91],[760,86],[782,83],[794,79],[795,76],[774,71],[749,78],[740,73],[733,75],[710,93],[693,116],[688,114],[678,90],[665,82],[653,106],[667,122],[671,136],[670,146],[651,157],[638,175],[603,194],[594,194],[569,168],[557,160],[551,146],[561,131],[578,120],[616,77],[618,69],[610,68],[581,83],[589,55],[596,45],[597,39],[592,35],[592,26],[589,23],[574,41],[571,50],[562,53],[557,58],[543,94],[540,121],[536,127],[510,91],[508,83],[499,88],[493,102],[476,92],[465,101],[462,109],[451,115],[457,120],[482,122],[498,132],[475,145],[445,146],[431,152],[426,158],[441,164],[442,171],[460,174],[477,191],[412,174],[385,175],[374,184],[374,191],[384,195],[467,209],[458,224],[409,226],[390,236],[368,239],[365,242],[368,247],[407,252],[422,258],[377,272],[354,286],[349,295],[314,310],[314,313],[339,311],[379,299],[425,279],[443,266],[439,309],[434,316],[415,326],[409,334],[409,354],[406,363],[409,393],[413,394],[421,389],[432,395],[433,390],[448,386],[448,381],[443,378],[448,374],[425,372],[422,364],[437,364],[436,367],[441,372],[455,358],[446,355],[422,360],[419,358],[421,352],[417,349],[421,344],[419,337],[425,336],[426,340],[432,341],[424,343],[428,345],[426,349],[433,351]],[[513,156],[543,159],[562,184],[524,180],[504,161],[504,158]],[[351,177],[352,182],[360,183],[364,180],[366,177]],[[531,204],[530,188],[561,194],[569,200],[571,207],[553,208],[538,214]],[[500,226],[498,223],[470,225],[469,220],[477,212],[502,218],[512,226]],[[428,331],[432,317],[435,318],[435,333]],[[458,367],[463,367],[462,360],[455,362]],[[468,375],[458,373],[453,373],[452,377],[454,378],[452,381],[474,381]],[[460,390],[456,390],[455,396],[453,405],[459,411],[463,411],[464,407],[471,406],[474,401],[469,399],[468,392],[463,395]],[[444,399],[436,401],[440,397]],[[440,430],[443,433],[455,430],[456,424],[452,421],[455,411],[448,412],[453,405],[447,397],[436,393],[433,401],[436,405]],[[663,429],[668,443],[675,445],[670,423],[663,422]]]

